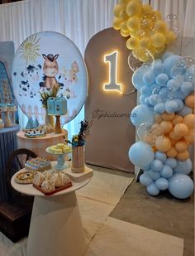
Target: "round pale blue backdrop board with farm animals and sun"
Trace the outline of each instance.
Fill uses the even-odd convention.
[[[44,31],[26,38],[17,49],[12,65],[13,93],[26,116],[45,122],[40,93],[49,93],[54,81],[58,95],[67,99],[69,123],[82,109],[88,93],[87,70],[77,46],[68,37]]]

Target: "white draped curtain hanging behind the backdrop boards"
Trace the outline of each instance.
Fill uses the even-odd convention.
[[[14,41],[15,49],[33,33],[58,31],[68,36],[81,53],[98,31],[112,26],[117,0],[26,0],[0,5],[0,41]],[[149,1],[143,0],[144,3]],[[151,5],[166,17],[178,15],[180,36],[195,37],[194,0],[151,0]],[[20,112],[21,127],[26,118]],[[78,133],[83,109],[66,125],[69,135]]]

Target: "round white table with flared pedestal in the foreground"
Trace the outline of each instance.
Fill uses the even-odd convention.
[[[92,177],[72,181],[73,186],[68,189],[45,196],[32,184],[18,184],[14,180],[21,171],[12,176],[12,187],[22,194],[35,196],[26,256],[81,256],[86,243],[75,191],[86,186]]]

